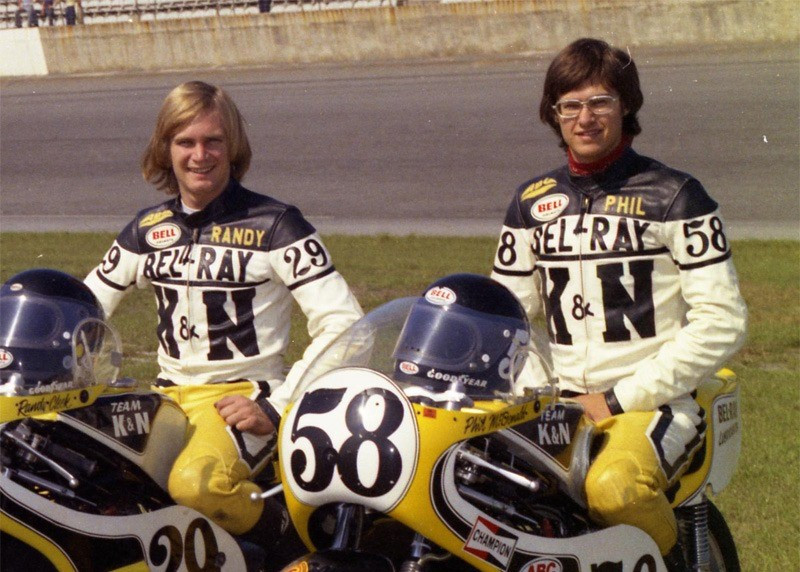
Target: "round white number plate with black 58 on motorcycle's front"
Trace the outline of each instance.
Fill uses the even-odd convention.
[[[389,512],[411,484],[419,453],[408,398],[362,368],[338,369],[309,385],[280,440],[287,484],[311,506],[348,502]]]

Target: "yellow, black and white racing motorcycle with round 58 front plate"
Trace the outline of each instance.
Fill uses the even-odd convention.
[[[666,570],[643,531],[589,518],[582,491],[598,436],[557,384],[487,396],[469,376],[422,376],[398,358],[418,301],[395,300],[356,322],[294,392],[280,470],[312,552],[284,570]],[[690,569],[738,571],[709,499],[731,480],[741,447],[732,373],[704,383],[697,400],[710,418],[705,443],[668,497]]]

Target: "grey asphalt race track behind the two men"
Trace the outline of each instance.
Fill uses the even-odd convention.
[[[800,51],[632,49],[635,148],[698,177],[733,238],[800,239]],[[138,161],[167,92],[226,88],[245,185],[325,234],[495,235],[516,186],[563,163],[538,100],[552,54],[0,81],[0,230],[117,231],[164,195]]]

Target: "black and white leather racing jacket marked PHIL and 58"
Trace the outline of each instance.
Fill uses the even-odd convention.
[[[562,389],[604,392],[612,412],[689,394],[744,339],[717,204],[630,148],[602,174],[564,166],[522,185],[492,277],[532,317],[543,307]]]

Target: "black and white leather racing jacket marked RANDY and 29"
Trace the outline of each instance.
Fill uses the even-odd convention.
[[[293,299],[312,342],[291,380],[362,315],[300,211],[234,180],[198,213],[182,213],[177,198],[138,213],[86,284],[107,314],[129,288],[152,285],[160,377],[176,385],[255,380],[275,389]]]

